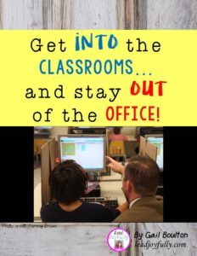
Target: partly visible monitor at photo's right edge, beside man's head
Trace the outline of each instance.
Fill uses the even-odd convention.
[[[145,137],[149,143],[152,143],[156,146],[156,162],[160,167],[160,171],[163,171],[163,134],[147,134]]]

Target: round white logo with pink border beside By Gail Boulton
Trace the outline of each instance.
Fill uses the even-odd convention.
[[[107,236],[107,243],[110,249],[115,252],[123,252],[131,244],[131,238],[126,230],[116,228],[111,230]]]

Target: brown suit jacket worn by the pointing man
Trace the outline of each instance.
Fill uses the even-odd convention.
[[[131,209],[122,212],[114,222],[162,222],[163,197],[142,197],[136,201]]]

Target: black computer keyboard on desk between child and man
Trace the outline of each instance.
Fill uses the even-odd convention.
[[[100,203],[104,207],[117,208],[118,201],[116,197],[82,197],[80,199],[82,202],[96,202]]]

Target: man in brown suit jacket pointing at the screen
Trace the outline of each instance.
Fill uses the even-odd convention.
[[[122,191],[129,208],[115,218],[115,222],[162,222],[163,198],[155,196],[159,183],[160,169],[149,157],[137,155],[122,166],[106,157],[114,172],[122,175]]]

